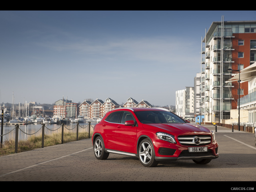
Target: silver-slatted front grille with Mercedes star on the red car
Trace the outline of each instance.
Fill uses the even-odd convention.
[[[208,145],[211,143],[211,136],[210,135],[182,135],[182,136],[178,136],[178,140],[182,145],[202,146],[202,145]]]

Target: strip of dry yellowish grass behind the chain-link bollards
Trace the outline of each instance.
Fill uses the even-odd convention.
[[[90,134],[90,136],[92,133]],[[78,133],[78,140],[88,138],[88,132]],[[63,143],[76,141],[77,135],[73,131],[64,130]],[[57,130],[56,133],[48,134],[44,136],[44,147],[61,144],[61,130]],[[24,151],[30,151],[36,148],[42,147],[42,134],[39,136],[31,135],[28,140],[18,141],[18,153]],[[3,146],[0,148],[0,156],[9,155],[15,153],[15,140],[5,140]]]

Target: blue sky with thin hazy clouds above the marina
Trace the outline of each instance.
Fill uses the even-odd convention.
[[[256,20],[256,11],[0,11],[0,103],[175,105],[221,16]]]

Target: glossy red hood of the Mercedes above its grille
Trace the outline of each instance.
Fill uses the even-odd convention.
[[[178,133],[178,132],[207,132],[209,129],[191,123],[150,123],[143,124],[143,128],[154,131],[164,131],[166,133]]]

